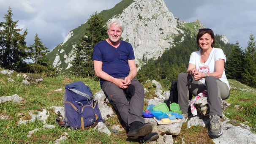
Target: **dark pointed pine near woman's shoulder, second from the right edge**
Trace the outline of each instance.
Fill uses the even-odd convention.
[[[228,79],[236,79],[241,82],[243,72],[243,51],[238,41],[236,41],[234,48],[227,57],[225,64],[225,73]]]

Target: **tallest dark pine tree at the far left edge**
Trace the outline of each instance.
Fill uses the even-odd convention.
[[[25,42],[27,29],[20,34],[22,29],[16,28],[19,21],[12,20],[13,13],[10,7],[7,13],[4,17],[5,22],[0,24],[0,66],[19,71],[27,58],[28,49]]]

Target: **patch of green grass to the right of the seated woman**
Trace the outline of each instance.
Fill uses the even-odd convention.
[[[231,105],[224,114],[232,120],[233,125],[240,126],[240,123],[243,123],[250,126],[251,131],[256,133],[256,90],[234,80],[229,82],[234,87],[231,87],[230,97],[226,100]]]

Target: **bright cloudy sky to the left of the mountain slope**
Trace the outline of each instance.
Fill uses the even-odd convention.
[[[0,0],[0,22],[9,6],[13,21],[27,28],[27,44],[34,43],[35,34],[48,49],[64,41],[67,33],[83,24],[95,11],[113,8],[121,0]]]

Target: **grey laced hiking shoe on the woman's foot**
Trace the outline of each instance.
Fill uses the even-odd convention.
[[[215,137],[219,137],[222,135],[222,128],[220,123],[220,117],[216,114],[214,116],[210,116],[210,134]]]

